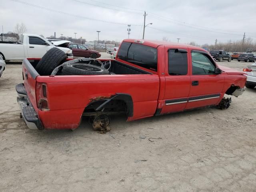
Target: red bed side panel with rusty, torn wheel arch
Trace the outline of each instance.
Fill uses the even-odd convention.
[[[45,128],[76,128],[84,108],[96,98],[116,93],[132,96],[134,115],[128,121],[153,116],[156,111],[159,77],[142,75],[39,76],[47,84],[49,111],[39,111]]]

